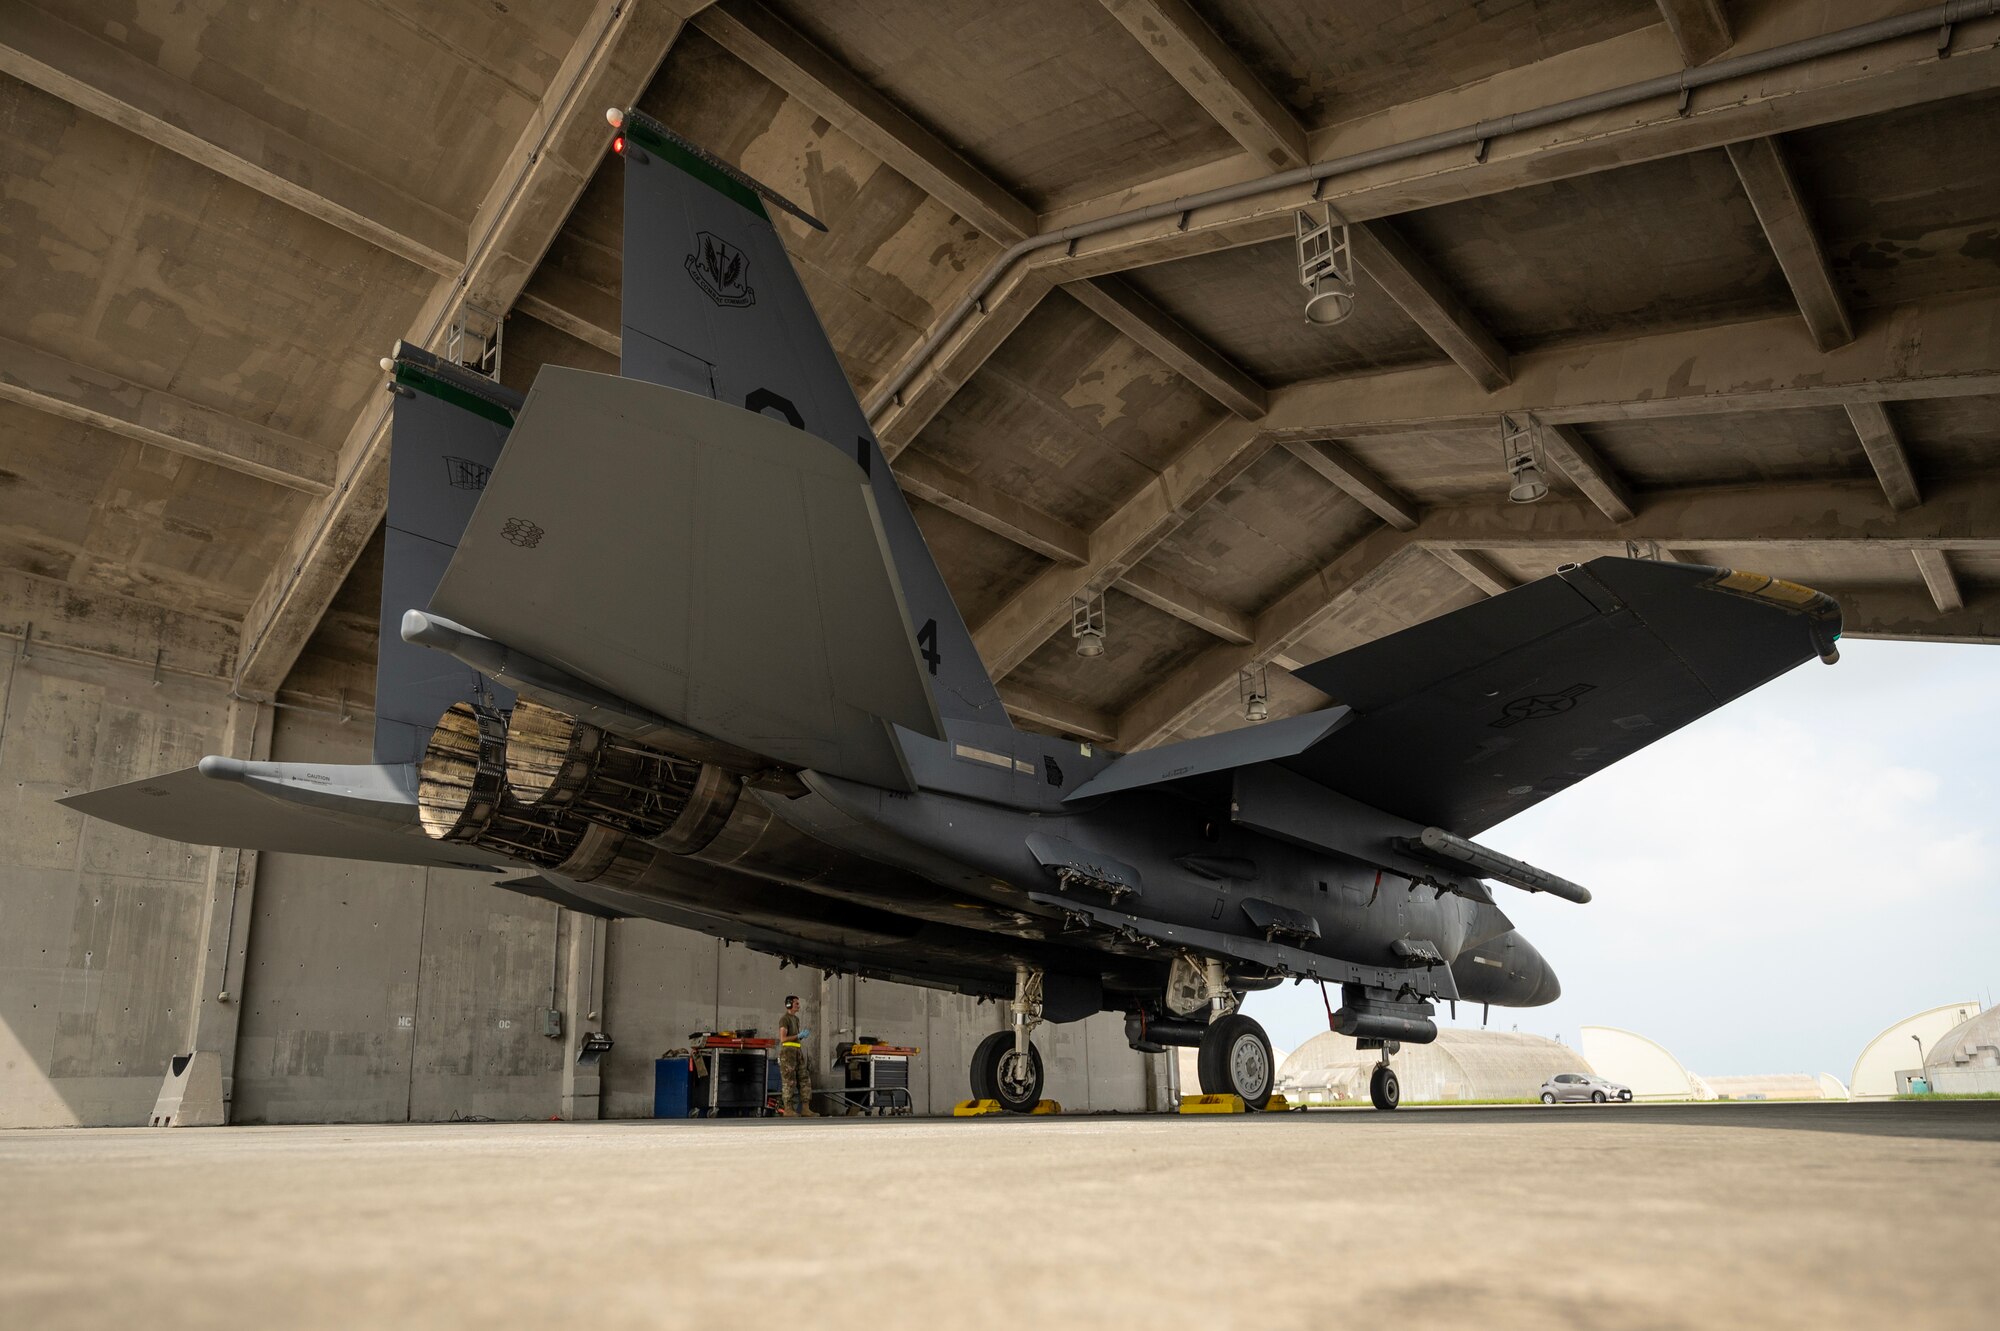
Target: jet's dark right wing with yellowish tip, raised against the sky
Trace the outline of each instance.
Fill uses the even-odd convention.
[[[1604,558],[1294,673],[1352,707],[1280,759],[1412,821],[1478,833],[1812,658],[1822,592],[1724,568]]]

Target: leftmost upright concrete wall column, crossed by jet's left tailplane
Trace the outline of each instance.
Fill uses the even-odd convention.
[[[222,751],[230,757],[268,759],[272,721],[270,703],[230,701]],[[208,857],[202,957],[186,1005],[192,1013],[188,1049],[194,1053],[194,1067],[192,1075],[182,1077],[188,1089],[174,1113],[174,1123],[184,1127],[220,1127],[230,1121],[256,861],[256,851],[228,847],[216,847]]]

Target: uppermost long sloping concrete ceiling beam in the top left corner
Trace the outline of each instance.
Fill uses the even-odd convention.
[[[462,220],[36,8],[0,6],[0,72],[418,268],[464,262]]]

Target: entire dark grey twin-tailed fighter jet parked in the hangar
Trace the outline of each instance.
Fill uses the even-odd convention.
[[[1438,999],[1558,993],[1482,879],[1590,895],[1470,837],[1836,656],[1820,592],[1602,558],[1306,666],[1324,711],[1138,753],[1018,731],[764,204],[798,210],[638,112],[616,148],[620,374],[522,400],[390,362],[376,761],[66,803],[1006,999],[972,1093],[1010,1111],[1034,1029],[1098,1011],[1260,1109],[1244,993],[1338,983],[1394,1109]]]

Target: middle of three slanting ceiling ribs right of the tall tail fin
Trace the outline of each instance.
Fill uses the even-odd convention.
[[[1076,596],[1102,592],[1138,566],[1244,468],[1268,442],[1244,420],[1224,420],[1180,452],[1090,534],[1090,560],[1044,570],[972,634],[994,679],[1026,662],[1070,622]]]

